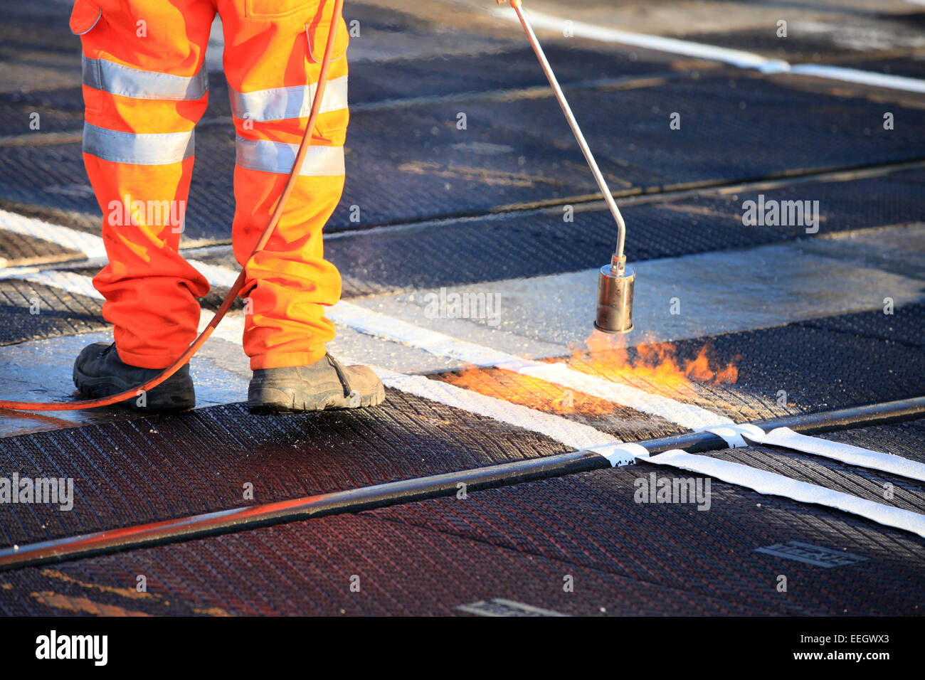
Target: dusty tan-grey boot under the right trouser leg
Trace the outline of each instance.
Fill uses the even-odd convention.
[[[252,414],[286,414],[376,406],[386,399],[368,366],[342,366],[330,354],[307,366],[261,368],[247,390]]]

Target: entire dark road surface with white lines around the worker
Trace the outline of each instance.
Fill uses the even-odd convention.
[[[517,24],[475,0],[349,3],[361,32],[347,186],[326,228],[344,279],[330,349],[387,377],[387,402],[248,415],[236,306],[193,360],[190,413],[0,413],[0,478],[74,483],[67,511],[0,504],[0,551],[925,394],[921,6],[534,7],[626,218],[635,331],[592,334],[615,227]],[[0,399],[70,401],[73,357],[111,337],[90,284],[103,251],[79,45],[68,3],[0,9]],[[236,266],[219,36],[181,246],[213,283],[204,318]],[[806,219],[747,223],[749,202],[800,202]],[[454,293],[484,304],[432,312]],[[823,438],[925,463],[925,420]],[[761,445],[705,455],[925,513],[907,477]],[[680,478],[709,481],[709,509],[637,501]],[[914,533],[638,462],[19,566],[0,572],[0,612],[917,615],[923,558]]]

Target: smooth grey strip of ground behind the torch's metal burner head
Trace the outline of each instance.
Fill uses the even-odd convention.
[[[769,328],[882,308],[885,298],[895,307],[916,302],[925,297],[923,253],[925,229],[896,227],[631,263],[636,330],[626,341],[634,345]],[[597,271],[589,269],[354,303],[497,350],[551,356],[568,352],[590,334],[597,285]],[[476,301],[468,317],[450,317],[454,294]],[[446,301],[442,307],[441,300]]]

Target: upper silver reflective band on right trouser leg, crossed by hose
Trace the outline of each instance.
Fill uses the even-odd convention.
[[[307,117],[312,110],[316,83],[240,93],[229,88],[231,113],[247,120],[283,120]],[[347,108],[347,76],[327,81],[319,113]]]

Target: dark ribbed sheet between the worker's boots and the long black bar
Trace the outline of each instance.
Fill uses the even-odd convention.
[[[278,501],[563,449],[394,390],[360,412],[254,417],[231,404],[6,438],[0,475],[73,477],[75,501],[0,507],[0,544],[239,507],[246,483],[254,501]]]

